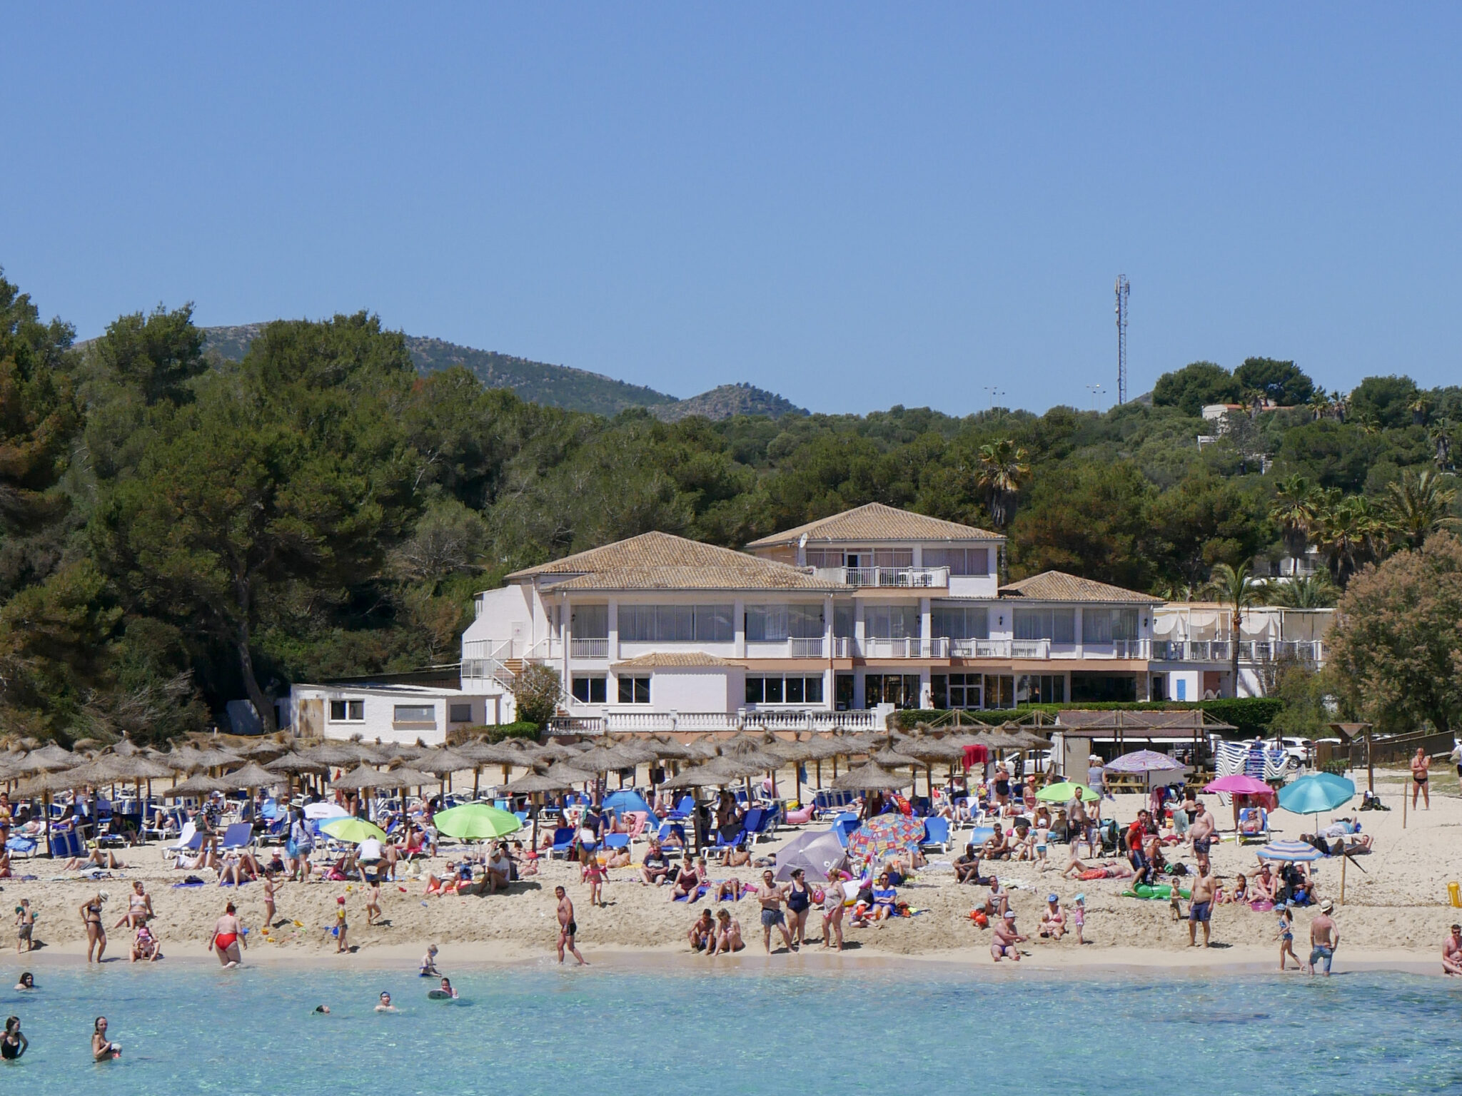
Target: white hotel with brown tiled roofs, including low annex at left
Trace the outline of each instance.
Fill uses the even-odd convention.
[[[458,688],[297,685],[297,725],[430,742],[465,720],[509,722],[523,662],[558,672],[556,725],[585,732],[873,726],[887,706],[1234,694],[1225,608],[1058,571],[1000,586],[1003,548],[997,533],[877,503],[746,551],[643,533],[478,595]],[[1250,612],[1240,694],[1262,693],[1276,658],[1320,661],[1329,611],[1319,617]]]

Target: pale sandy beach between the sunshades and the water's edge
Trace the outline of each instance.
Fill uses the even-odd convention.
[[[1354,775],[1364,786],[1364,773]],[[1409,783],[1409,782],[1406,782]],[[1462,837],[1462,798],[1455,777],[1439,773],[1433,779],[1430,811],[1408,813],[1402,827],[1401,772],[1377,772],[1377,791],[1393,810],[1366,813],[1360,818],[1364,830],[1374,836],[1374,850],[1357,856],[1357,865],[1347,868],[1345,900],[1336,909],[1342,945],[1336,956],[1338,969],[1383,967],[1414,972],[1439,972],[1442,940],[1447,926],[1462,919],[1462,910],[1447,905],[1447,883],[1458,878],[1456,843]],[[1230,813],[1209,798],[1221,830]],[[1107,817],[1129,821],[1142,805],[1140,796],[1118,796],[1108,804]],[[1352,804],[1354,805],[1354,804]],[[1308,829],[1308,821],[1284,811],[1275,813],[1278,836],[1297,837]],[[1322,824],[1326,818],[1322,818]],[[757,856],[769,856],[789,839],[784,830],[775,842],[756,846]],[[636,845],[636,859],[643,852]],[[1181,849],[1181,846],[1175,846]],[[443,852],[450,852],[444,849]],[[849,948],[841,956],[825,953],[816,944],[800,956],[773,954],[770,963],[795,962],[806,969],[836,969],[846,963],[911,962],[947,963],[966,967],[994,967],[988,953],[988,929],[969,921],[969,910],[982,902],[985,888],[958,886],[953,881],[950,856],[934,853],[927,868],[901,888],[921,913],[899,918],[879,928],[846,928]],[[1056,864],[1064,867],[1064,848],[1056,846]],[[9,964],[44,966],[53,962],[76,962],[85,954],[85,935],[77,906],[98,888],[110,894],[104,913],[108,926],[108,957],[126,963],[132,934],[113,929],[127,905],[132,880],[145,881],[158,913],[154,929],[162,941],[165,962],[208,960],[206,941],[224,903],[235,900],[246,925],[251,928],[250,963],[319,962],[329,964],[404,966],[414,964],[425,944],[436,943],[450,954],[453,966],[463,963],[522,963],[553,957],[554,886],[563,884],[576,906],[580,926],[579,945],[585,957],[598,963],[687,962],[706,963],[692,956],[686,931],[705,905],[668,902],[668,888],[646,887],[637,869],[610,871],[604,888],[607,905],[591,907],[588,887],[579,881],[577,865],[563,861],[541,861],[542,871],[512,887],[507,894],[491,897],[424,896],[424,881],[402,878],[382,888],[385,924],[366,925],[364,888],[346,883],[284,883],[278,886],[276,928],[262,926],[263,888],[247,884],[237,891],[208,883],[200,887],[174,887],[186,872],[174,871],[164,861],[159,846],[142,846],[121,853],[130,865],[113,878],[89,883],[58,872],[51,861],[16,861],[18,874],[35,874],[34,881],[4,880],[7,912],[22,897],[31,900],[39,919],[35,938],[44,948],[29,957],[15,954],[13,929],[0,935]],[[1181,850],[1177,858],[1192,861]],[[440,868],[447,856],[433,864]],[[1225,886],[1238,872],[1257,867],[1254,846],[1240,848],[1225,839],[1213,850],[1213,865]],[[1164,902],[1140,902],[1120,897],[1127,886],[1123,880],[1076,883],[1060,878],[1060,871],[1041,872],[1032,864],[1000,865],[1001,880],[1013,887],[1012,905],[1018,912],[1022,932],[1032,940],[1022,969],[1063,967],[1167,967],[1206,970],[1215,966],[1243,970],[1266,970],[1276,966],[1275,916],[1257,913],[1247,906],[1218,906],[1213,913],[1212,948],[1192,948],[1187,925],[1175,922]],[[1314,865],[1320,894],[1339,899],[1341,867],[1336,861]],[[759,868],[711,867],[712,878],[738,877],[750,881]],[[205,878],[212,878],[206,872]],[[1064,903],[1082,891],[1086,894],[1086,947],[1072,937],[1058,943],[1035,938],[1039,910],[1047,893],[1054,891]],[[351,954],[335,954],[335,940],[326,925],[333,924],[336,897],[346,899],[349,913]],[[766,963],[762,950],[760,924],[754,899],[728,903],[741,922],[749,948],[725,960],[740,966]],[[1301,957],[1307,951],[1310,910],[1300,912],[1295,924],[1295,944]],[[279,924],[284,922],[284,924]],[[808,921],[810,935],[820,937],[820,916],[814,910]],[[722,962],[722,960],[716,960]],[[1000,964],[1013,966],[1013,964]]]

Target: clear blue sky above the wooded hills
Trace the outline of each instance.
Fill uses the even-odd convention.
[[[1123,272],[1133,395],[1462,383],[1462,7],[1276,7],[26,4],[0,265],[952,414],[1108,405]]]

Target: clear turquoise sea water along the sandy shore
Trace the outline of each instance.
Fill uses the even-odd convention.
[[[1462,986],[1406,975],[997,979],[857,973],[412,973],[37,967],[0,1090],[168,1093],[1462,1092]],[[449,970],[450,973],[450,970]],[[1010,972],[1013,975],[1013,972]],[[373,1011],[387,989],[401,1013]],[[326,1002],[332,1016],[313,1016]],[[88,1057],[104,1013],[124,1048]]]

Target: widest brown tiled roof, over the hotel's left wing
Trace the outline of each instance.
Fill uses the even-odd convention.
[[[640,533],[627,541],[513,571],[509,579],[563,576],[556,590],[816,590],[846,589],[795,567],[746,552],[687,541],[673,533]]]

